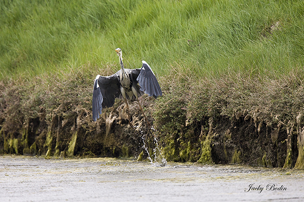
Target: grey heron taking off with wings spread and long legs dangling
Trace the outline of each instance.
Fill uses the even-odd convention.
[[[129,124],[134,128],[130,121],[127,99],[136,98],[140,111],[147,121],[148,126],[151,128],[142,111],[138,97],[144,93],[154,97],[163,95],[155,74],[145,61],[142,61],[142,67],[140,69],[125,69],[121,48],[117,48],[115,51],[119,57],[121,70],[111,76],[96,76],[92,101],[93,121],[99,118],[102,108],[112,107],[114,105],[116,97],[124,98],[128,107]]]

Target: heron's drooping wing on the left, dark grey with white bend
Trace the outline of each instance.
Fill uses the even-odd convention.
[[[93,121],[99,118],[102,108],[112,107],[115,103],[115,98],[120,94],[120,83],[117,74],[111,76],[97,75],[93,87]]]

